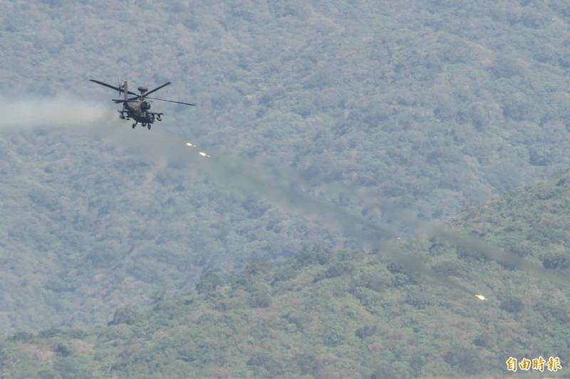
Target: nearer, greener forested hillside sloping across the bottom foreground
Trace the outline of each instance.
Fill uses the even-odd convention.
[[[518,246],[518,256],[547,268],[541,275],[563,272],[569,267],[567,253],[560,254],[570,241],[568,198],[570,174],[564,174],[473,208],[452,229]],[[549,233],[539,225],[551,225]],[[402,244],[402,254],[413,253],[442,277],[480,290],[487,299],[402,272],[382,250],[303,250],[281,267],[251,262],[227,281],[207,272],[197,294],[158,297],[149,311],[122,307],[107,326],[18,333],[0,345],[0,373],[501,378],[509,356],[557,356],[563,369],[545,368],[545,374],[568,375],[568,280],[559,286],[435,239]]]

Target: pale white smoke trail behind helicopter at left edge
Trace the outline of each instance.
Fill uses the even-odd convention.
[[[112,117],[109,107],[71,95],[22,99],[0,96],[0,130],[95,125]]]

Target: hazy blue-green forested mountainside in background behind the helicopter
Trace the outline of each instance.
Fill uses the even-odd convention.
[[[113,110],[88,79],[171,80],[162,97],[199,106],[154,103],[155,129],[294,169],[373,222],[443,219],[569,163],[569,20],[561,1],[0,1],[0,95]],[[104,324],[207,269],[356,245],[160,144],[123,147],[81,124],[0,121],[2,333]]]

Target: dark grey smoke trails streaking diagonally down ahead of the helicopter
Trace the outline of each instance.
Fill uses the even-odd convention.
[[[405,252],[400,237],[388,228],[375,225],[349,210],[304,193],[301,188],[306,181],[289,169],[278,169],[275,166],[261,164],[259,161],[229,154],[217,156],[212,151],[199,154],[200,150],[197,146],[157,131],[153,131],[151,135],[121,129],[110,141],[118,142],[126,149],[150,161],[160,157],[181,166],[192,166],[212,178],[219,186],[253,194],[264,201],[284,208],[289,213],[303,215],[311,220],[317,220],[327,228],[340,230],[358,242],[372,244],[375,249],[382,252],[384,257],[399,265],[405,272],[435,279],[470,296],[476,293],[456,279],[438,274],[430,265],[423,262],[419,255],[410,255]],[[350,186],[343,185],[331,186],[331,188],[339,193],[349,193],[351,189]],[[353,196],[358,196],[358,194],[358,191],[353,192]],[[373,203],[373,198],[365,193],[364,201]],[[397,210],[393,209],[392,213],[398,216]],[[413,219],[413,216],[410,216],[409,212],[404,212],[403,218],[408,220]],[[481,252],[489,260],[532,272],[537,277],[553,279],[559,284],[569,284],[569,280],[561,273],[539,267],[499,247],[489,245],[480,238],[450,230],[437,223],[420,223],[415,219],[415,224],[418,225],[418,233],[427,238],[438,237],[452,246]]]

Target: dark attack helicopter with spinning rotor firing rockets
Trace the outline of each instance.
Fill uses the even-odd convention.
[[[135,123],[133,124],[133,129],[137,126],[140,122],[142,127],[147,127],[150,130],[150,125],[153,124],[155,121],[162,121],[162,112],[150,112],[150,103],[152,101],[147,100],[160,100],[163,102],[175,102],[176,104],[183,104],[183,105],[192,105],[190,102],[177,102],[174,100],[166,100],[166,99],[159,99],[158,97],[149,97],[153,92],[160,90],[167,85],[170,85],[170,82],[166,82],[163,85],[159,85],[153,90],[148,90],[147,87],[138,87],[139,93],[131,92],[128,88],[128,83],[125,80],[122,85],[114,86],[107,84],[105,82],[100,82],[99,80],[90,79],[90,82],[97,83],[98,85],[103,85],[104,87],[111,88],[112,90],[116,90],[119,94],[122,92],[125,96],[123,99],[111,99],[116,104],[123,103],[123,109],[117,110],[119,112],[120,119],[133,119]],[[129,95],[133,95],[133,97],[129,97]]]

